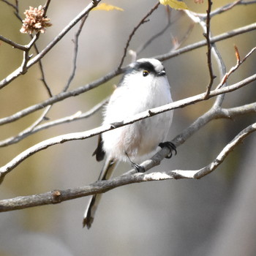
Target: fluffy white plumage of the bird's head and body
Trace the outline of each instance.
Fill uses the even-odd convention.
[[[164,72],[162,63],[157,59],[140,59],[136,62],[137,66],[138,63],[152,64],[155,72],[148,70],[148,75],[143,76],[143,71],[146,69],[128,71],[121,80],[121,85],[110,97],[103,124],[122,121],[150,108],[172,102],[167,76],[157,76]],[[133,67],[135,64],[131,64],[131,68]],[[159,143],[165,141],[172,118],[173,112],[169,111],[105,132],[102,141],[107,157],[128,161],[126,155],[128,154],[136,163],[151,157],[156,153]]]

